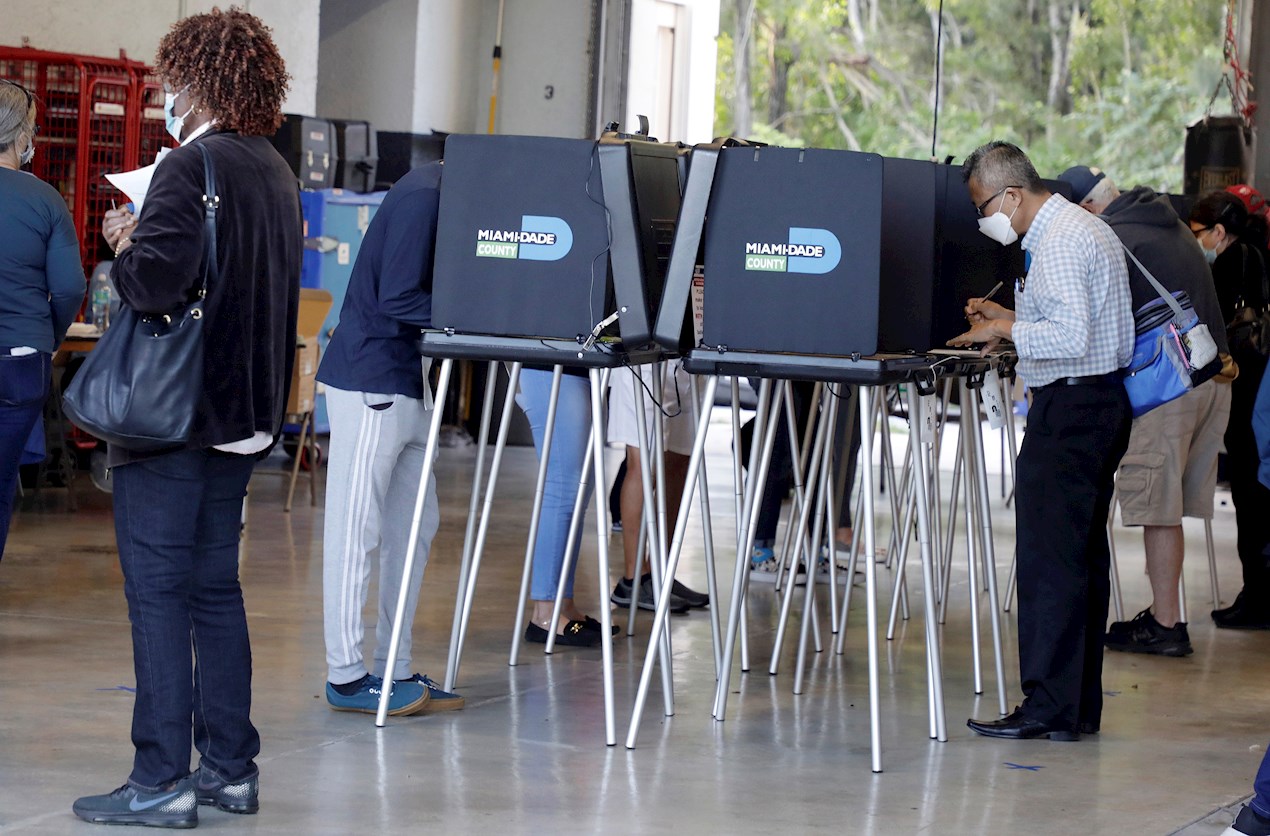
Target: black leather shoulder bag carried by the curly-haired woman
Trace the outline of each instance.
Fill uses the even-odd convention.
[[[89,353],[62,396],[70,419],[108,443],[149,452],[189,441],[203,393],[203,302],[220,281],[216,257],[216,169],[203,152],[203,286],[173,314],[127,305]]]

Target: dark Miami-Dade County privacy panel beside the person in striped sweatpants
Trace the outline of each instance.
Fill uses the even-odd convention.
[[[433,325],[500,337],[588,334],[608,313],[608,244],[594,142],[451,136]]]

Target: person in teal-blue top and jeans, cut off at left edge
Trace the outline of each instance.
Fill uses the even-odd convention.
[[[48,398],[52,356],[84,301],[75,225],[36,155],[36,97],[0,80],[0,558],[18,462]]]

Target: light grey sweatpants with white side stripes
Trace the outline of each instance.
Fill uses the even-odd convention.
[[[385,409],[368,405],[384,403],[391,405]],[[428,405],[431,403],[405,395],[373,395],[326,386],[330,457],[323,531],[323,611],[328,680],[335,685],[367,673],[362,654],[366,634],[362,610],[375,554],[378,554],[380,565],[380,602],[373,658],[375,673],[384,675],[432,422]],[[410,629],[428,550],[439,522],[437,480],[432,476],[392,678],[411,675]]]

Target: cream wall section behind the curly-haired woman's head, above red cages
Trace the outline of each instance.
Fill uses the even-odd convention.
[[[116,58],[119,50],[136,61],[154,61],[159,39],[174,22],[213,5],[213,0],[0,0],[0,46],[95,55]],[[291,72],[283,109],[311,113],[318,98],[318,18],[320,0],[240,0],[239,5],[273,28],[273,38]]]

